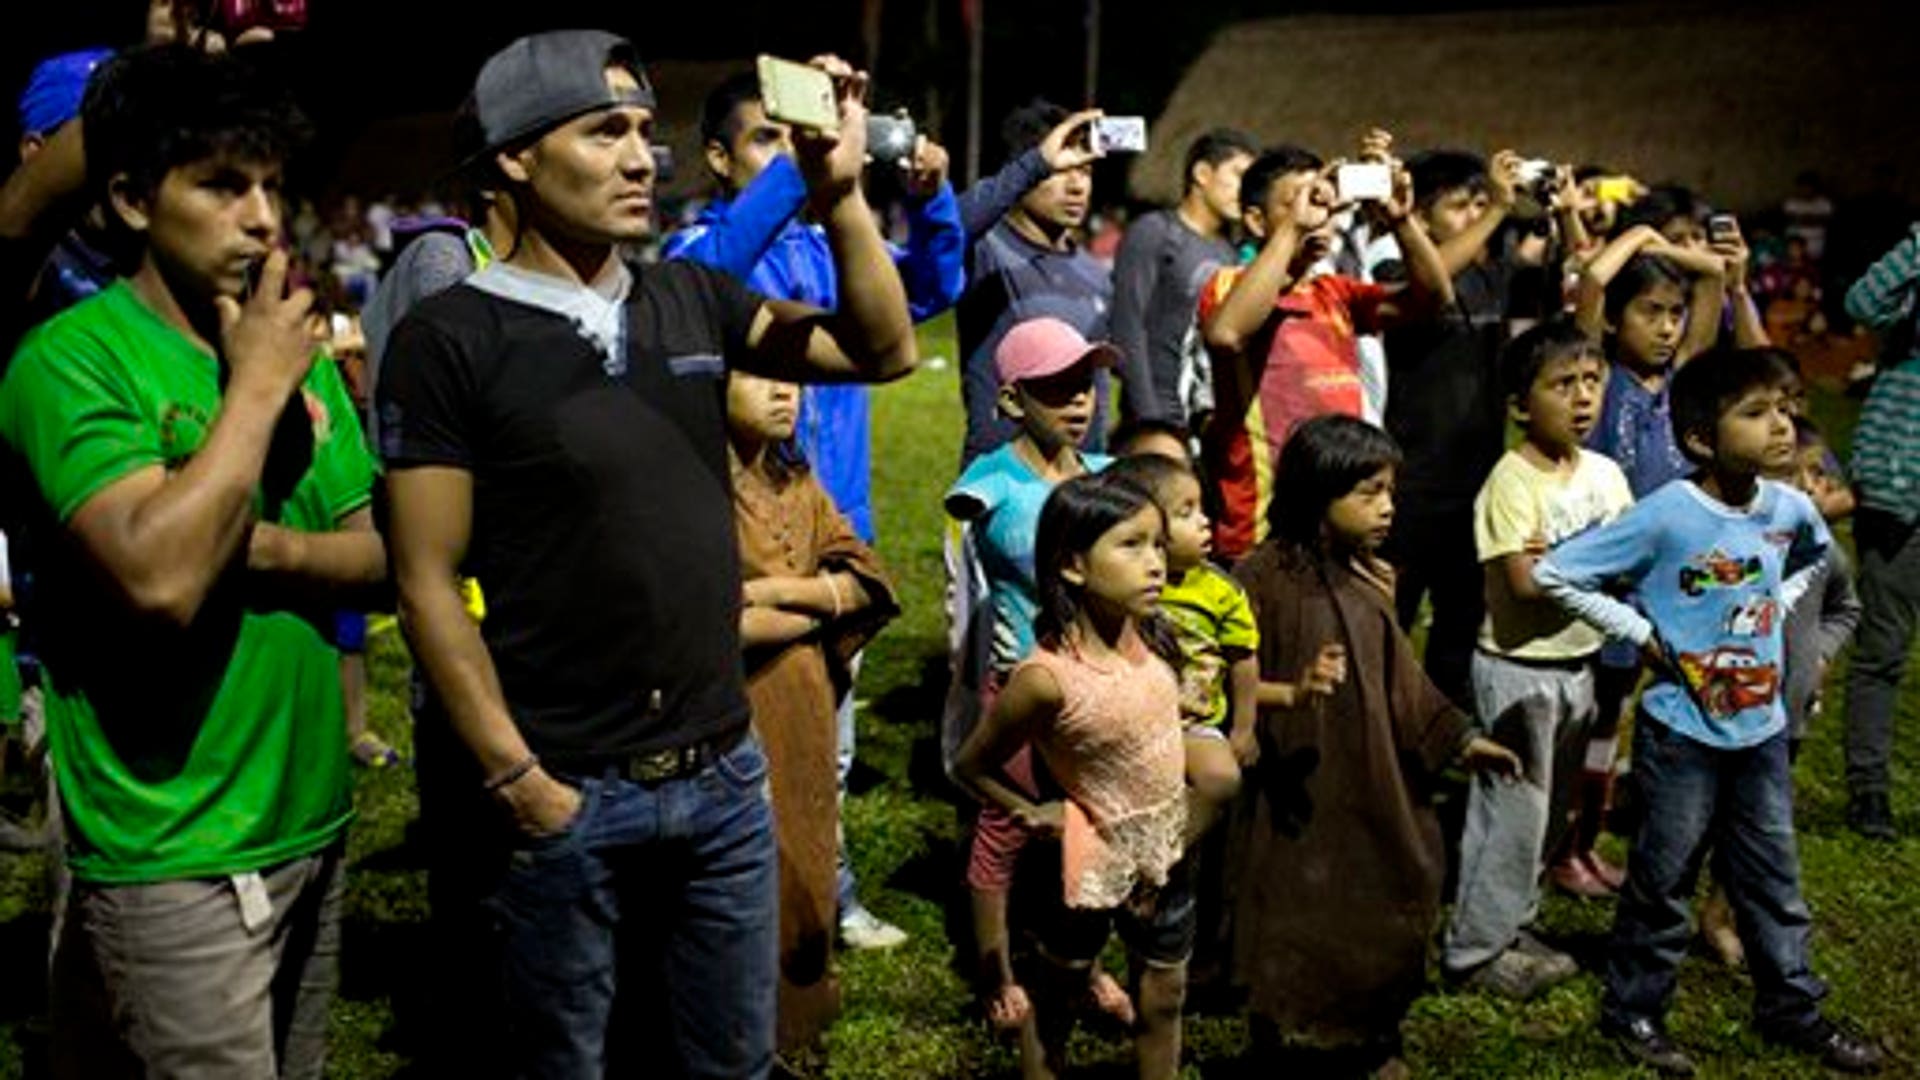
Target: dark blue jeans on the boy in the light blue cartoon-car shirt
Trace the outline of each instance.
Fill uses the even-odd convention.
[[[1812,1022],[1826,988],[1807,969],[1811,915],[1793,847],[1788,732],[1745,749],[1716,749],[1640,713],[1630,780],[1644,813],[1613,920],[1601,1013],[1615,1022],[1667,1013],[1692,938],[1693,886],[1711,847],[1715,880],[1734,905],[1753,972],[1755,1026]]]

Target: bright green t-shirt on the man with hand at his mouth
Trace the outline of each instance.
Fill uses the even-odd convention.
[[[234,569],[194,623],[132,611],[65,528],[134,471],[184,463],[221,407],[221,363],[127,282],[33,331],[0,380],[0,436],[31,477],[46,719],[73,872],[125,884],[236,874],[313,853],[351,819],[332,611],[294,611]],[[332,363],[280,417],[259,521],[332,530],[374,463]]]

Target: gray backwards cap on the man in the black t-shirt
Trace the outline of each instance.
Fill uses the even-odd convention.
[[[607,88],[607,67],[626,67],[637,90]],[[634,42],[607,31],[528,35],[488,58],[472,110],[484,154],[611,106],[653,108],[653,85]]]

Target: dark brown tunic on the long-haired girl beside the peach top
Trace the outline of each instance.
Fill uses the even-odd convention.
[[[1331,696],[1260,715],[1250,813],[1236,822],[1235,970],[1290,1042],[1392,1038],[1425,984],[1444,853],[1427,799],[1471,736],[1428,682],[1380,588],[1265,542],[1240,563],[1260,676],[1294,682],[1346,646]]]

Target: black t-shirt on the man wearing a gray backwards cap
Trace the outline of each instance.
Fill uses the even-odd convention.
[[[747,723],[726,357],[760,298],[695,265],[632,267],[628,363],[543,307],[472,284],[388,344],[390,467],[472,473],[480,626],[507,707],[564,769]]]

